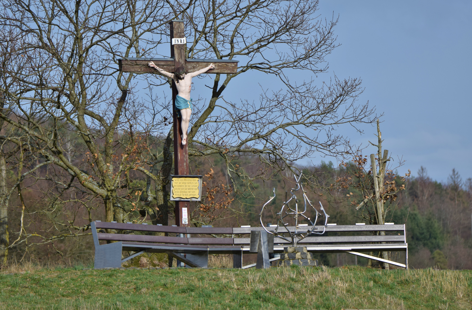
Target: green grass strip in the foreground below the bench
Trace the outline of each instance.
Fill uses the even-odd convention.
[[[1,273],[0,309],[453,310],[472,305],[470,270],[77,269]]]

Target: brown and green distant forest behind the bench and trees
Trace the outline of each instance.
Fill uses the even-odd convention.
[[[78,156],[78,161],[86,160],[87,156]],[[38,159],[39,160],[39,159]],[[257,157],[244,156],[234,159],[235,166],[241,165],[248,170],[253,166],[253,172],[258,173],[260,160]],[[239,164],[236,164],[238,162]],[[346,166],[353,165],[349,162]],[[226,165],[223,159],[213,157],[205,162],[192,166],[194,174],[204,176],[204,197],[201,202],[192,202],[190,214],[192,224],[200,226],[211,224],[214,226],[260,226],[259,212],[265,201],[272,196],[272,189],[276,190],[276,199],[272,202],[273,210],[280,207],[285,199],[285,192],[290,193],[294,186],[293,175],[282,171],[271,175],[270,178],[256,180],[250,183],[231,181],[226,174]],[[401,167],[403,168],[403,167]],[[310,177],[324,176],[324,182],[335,182],[340,175],[348,170],[333,167],[331,163],[322,163],[318,167],[299,167],[300,171],[310,181]],[[249,169],[250,170],[250,169]],[[14,171],[10,171],[11,174]],[[260,172],[259,172],[260,173]],[[89,235],[88,223],[90,220],[105,220],[105,214],[100,207],[100,199],[85,193],[77,184],[69,184],[67,190],[62,190],[67,184],[53,184],[53,175],[58,174],[53,167],[43,166],[37,170],[34,177],[28,177],[23,182],[20,195],[12,195],[8,208],[8,230],[10,243],[16,239],[17,246],[8,253],[10,260],[32,260],[39,262],[64,261],[76,263],[89,261],[93,257],[93,242]],[[453,169],[448,177],[447,184],[441,184],[428,177],[426,168],[421,168],[416,177],[409,182],[401,181],[393,174],[396,186],[405,184],[405,190],[397,193],[396,200],[390,203],[387,222],[406,224],[407,242],[409,249],[409,264],[412,268],[426,268],[436,266],[450,269],[472,269],[472,180],[463,181],[459,173]],[[128,218],[135,222],[149,222],[152,219],[144,209],[139,208],[139,202],[146,201],[138,193],[140,187],[145,187],[146,179],[134,175],[132,193],[135,202],[130,200]],[[322,177],[320,177],[322,179]],[[244,185],[246,184],[246,185]],[[331,184],[333,185],[333,184]],[[355,210],[350,200],[342,197],[352,196],[352,188],[339,189],[332,186],[333,192],[329,197],[320,195],[316,189],[304,184],[312,204],[319,209],[319,201],[329,214],[329,223],[354,224],[362,222],[362,217]],[[131,186],[130,186],[131,187]],[[129,191],[128,191],[129,192]],[[236,194],[235,194],[236,192]],[[126,194],[124,194],[126,195]],[[129,198],[129,197],[128,197]],[[23,200],[23,202],[21,201]],[[22,207],[24,206],[24,208]],[[150,207],[156,208],[155,204]],[[169,225],[174,224],[172,206],[169,214]],[[275,214],[275,213],[273,213]],[[23,226],[21,218],[23,216]],[[277,219],[268,215],[263,218],[264,223],[276,224]],[[364,220],[365,222],[365,220]],[[367,223],[368,224],[368,223]],[[22,227],[21,227],[22,226]],[[20,230],[22,236],[18,234]],[[27,236],[27,237],[25,237]],[[41,237],[39,237],[41,236]],[[35,244],[36,243],[36,244]],[[328,266],[344,264],[366,265],[367,260],[358,261],[350,254],[319,254],[321,263]]]

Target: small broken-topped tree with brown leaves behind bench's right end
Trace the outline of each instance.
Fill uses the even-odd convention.
[[[404,160],[399,159],[398,165],[388,165],[391,157],[388,150],[382,150],[382,133],[380,121],[377,119],[377,153],[362,155],[361,150],[352,151],[354,157],[351,162],[343,162],[340,168],[332,171],[332,174],[321,172],[325,177],[309,178],[310,184],[320,193],[320,196],[332,202],[333,206],[350,207],[346,213],[367,221],[369,224],[384,225],[387,218],[391,218],[396,209],[396,199],[409,180],[411,171],[405,176],[397,176],[396,169],[404,165]],[[393,161],[392,161],[393,162]],[[326,178],[328,176],[328,178]],[[398,186],[398,183],[403,183]],[[354,212],[353,212],[354,211]],[[374,234],[385,235],[384,231]],[[371,253],[372,255],[372,253]],[[379,257],[388,260],[388,252],[379,253]],[[372,260],[369,260],[371,266]],[[386,269],[388,263],[384,263]]]

